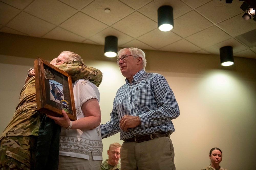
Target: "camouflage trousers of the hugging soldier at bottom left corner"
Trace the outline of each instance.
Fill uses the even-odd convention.
[[[34,169],[37,137],[9,136],[1,140],[0,169]]]

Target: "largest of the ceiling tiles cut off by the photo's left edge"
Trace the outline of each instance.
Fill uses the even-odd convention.
[[[5,25],[18,15],[20,10],[0,2],[0,24]]]

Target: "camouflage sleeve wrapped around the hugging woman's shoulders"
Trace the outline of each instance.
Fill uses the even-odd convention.
[[[102,81],[102,72],[93,67],[87,67],[82,61],[65,62],[55,66],[70,74],[72,82],[84,79],[99,87]]]

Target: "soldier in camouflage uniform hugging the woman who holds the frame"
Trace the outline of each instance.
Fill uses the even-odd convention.
[[[89,80],[97,87],[102,81],[100,70],[87,67],[77,54],[63,51],[69,56],[67,62],[56,65],[71,75],[72,82]],[[63,53],[62,52],[62,53]],[[76,59],[75,59],[76,58]],[[79,60],[79,61],[76,61]],[[54,61],[54,60],[53,60]],[[56,59],[51,64],[56,64]],[[29,76],[34,75],[30,70]],[[20,92],[20,102],[14,117],[2,133],[0,140],[0,169],[34,169],[37,136],[43,114],[36,109],[35,77],[27,77]]]

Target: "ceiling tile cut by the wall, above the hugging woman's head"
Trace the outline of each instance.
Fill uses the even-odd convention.
[[[84,37],[76,35],[72,32],[64,30],[63,28],[56,27],[55,29],[48,32],[42,38],[49,38],[54,40],[62,40],[62,41],[71,41],[81,43],[82,41],[86,40]]]

